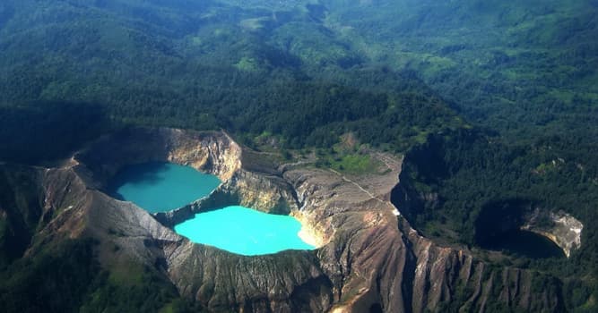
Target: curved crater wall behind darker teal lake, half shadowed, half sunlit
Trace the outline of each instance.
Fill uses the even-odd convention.
[[[240,168],[241,148],[224,132],[134,129],[105,136],[74,156],[88,185],[101,189],[125,165],[172,162],[227,181]],[[91,176],[89,175],[91,173]]]

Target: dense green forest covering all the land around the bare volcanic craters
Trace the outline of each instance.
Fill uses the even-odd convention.
[[[0,69],[0,164],[14,173],[131,126],[225,130],[255,149],[316,151],[320,166],[342,160],[331,147],[351,133],[405,156],[411,191],[436,197],[405,216],[445,244],[480,248],[476,221],[497,201],[576,216],[584,244],[571,258],[489,262],[554,277],[567,310],[598,308],[594,0],[4,0]],[[14,173],[0,176],[0,213],[29,216],[37,191]],[[100,273],[69,256],[85,258],[90,242],[53,248],[28,272],[11,240],[40,216],[6,216],[0,291],[29,297],[57,255]],[[90,311],[118,288],[95,274],[75,283],[101,286],[64,300]]]

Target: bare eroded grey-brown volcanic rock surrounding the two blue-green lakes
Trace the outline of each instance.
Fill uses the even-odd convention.
[[[359,177],[310,165],[255,171],[223,133],[129,131],[46,170],[45,209],[56,214],[38,236],[92,236],[103,266],[122,259],[152,266],[213,311],[477,311],[492,309],[489,299],[511,309],[562,309],[557,291],[533,290],[529,272],[487,266],[468,250],[420,236],[390,202],[401,160],[370,153],[380,168]],[[156,216],[101,191],[120,167],[147,161],[193,165],[223,182],[205,199]],[[299,216],[320,247],[246,257],[192,243],[169,228],[229,204]]]

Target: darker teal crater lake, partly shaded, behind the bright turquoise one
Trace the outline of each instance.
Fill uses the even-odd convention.
[[[150,213],[184,207],[220,185],[218,177],[171,163],[126,166],[109,183],[112,196],[131,201]]]

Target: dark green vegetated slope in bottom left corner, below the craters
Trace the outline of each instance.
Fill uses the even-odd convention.
[[[67,240],[35,258],[22,259],[0,278],[3,312],[199,312],[181,300],[174,285],[153,269],[121,266],[102,269],[97,243]],[[26,304],[26,305],[25,305]]]

